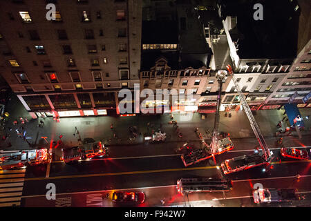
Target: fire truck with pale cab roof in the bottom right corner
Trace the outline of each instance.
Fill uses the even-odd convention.
[[[253,191],[254,203],[291,202],[301,200],[297,189],[256,189]]]

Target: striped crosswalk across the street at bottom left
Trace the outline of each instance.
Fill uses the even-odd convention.
[[[20,206],[26,169],[0,171],[0,207]]]

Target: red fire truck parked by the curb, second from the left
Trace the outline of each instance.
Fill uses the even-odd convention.
[[[83,143],[70,148],[62,148],[61,160],[65,163],[92,159],[93,157],[103,157],[107,155],[108,148],[102,142]]]

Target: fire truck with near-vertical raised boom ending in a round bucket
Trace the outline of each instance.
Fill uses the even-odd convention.
[[[219,70],[216,73],[216,78],[218,81],[218,96],[217,96],[217,106],[216,106],[216,114],[214,120],[214,132],[211,140],[211,144],[208,145],[205,140],[202,140],[203,148],[195,149],[189,153],[185,153],[181,155],[182,162],[185,166],[190,166],[191,164],[196,164],[203,160],[207,160],[213,157],[215,161],[215,155],[219,155],[221,153],[225,153],[226,151],[231,151],[234,148],[234,144],[230,140],[229,136],[223,137],[218,133],[219,126],[219,111],[220,111],[220,102],[221,102],[221,90],[223,88],[223,79],[227,77],[227,71]]]

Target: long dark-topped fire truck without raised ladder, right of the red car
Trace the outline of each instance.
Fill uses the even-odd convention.
[[[185,193],[205,193],[232,190],[232,182],[222,179],[213,179],[211,177],[203,178],[181,178],[177,180],[177,191],[184,195]]]

